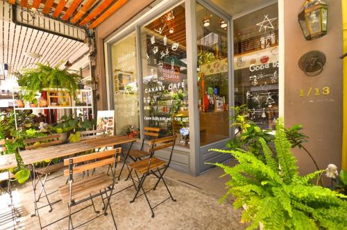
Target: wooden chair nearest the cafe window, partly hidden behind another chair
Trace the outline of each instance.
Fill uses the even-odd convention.
[[[142,139],[142,144],[140,149],[134,149],[130,150],[128,156],[131,160],[134,162],[142,160],[142,158],[151,155],[149,152],[149,148],[144,150],[144,139],[146,137],[150,138],[151,140],[159,137],[160,128],[152,128],[152,127],[144,127],[144,138]],[[133,169],[130,169],[130,172],[128,176],[126,177],[126,180],[129,179],[131,172]]]

